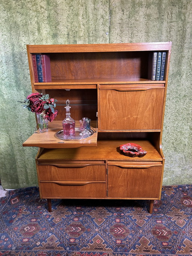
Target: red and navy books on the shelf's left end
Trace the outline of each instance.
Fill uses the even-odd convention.
[[[50,57],[46,54],[32,54],[34,82],[51,81]]]

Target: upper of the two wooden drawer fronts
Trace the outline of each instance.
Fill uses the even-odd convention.
[[[105,165],[89,163],[78,166],[73,163],[54,165],[38,165],[40,181],[105,181]]]

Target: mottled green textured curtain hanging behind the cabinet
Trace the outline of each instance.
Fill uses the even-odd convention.
[[[191,0],[0,0],[0,179],[4,188],[37,185],[37,148],[22,147],[34,113],[26,44],[172,41],[163,130],[164,185],[192,182]]]

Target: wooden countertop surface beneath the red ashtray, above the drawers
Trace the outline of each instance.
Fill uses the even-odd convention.
[[[147,154],[144,157],[127,157],[120,151],[120,145],[125,143],[136,143],[142,147]],[[163,158],[149,140],[98,140],[96,147],[80,147],[68,149],[43,149],[38,157],[41,161],[52,160],[63,161],[162,161]]]

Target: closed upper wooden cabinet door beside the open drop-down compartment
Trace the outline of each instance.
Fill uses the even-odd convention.
[[[100,85],[99,96],[99,130],[160,130],[163,86]]]

